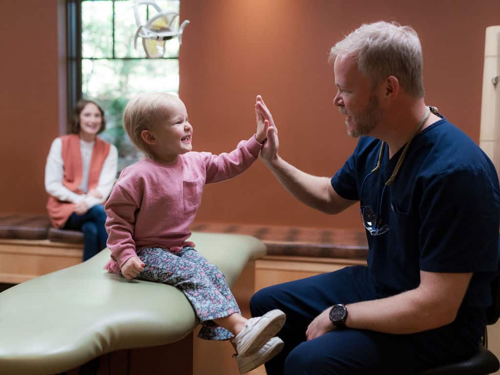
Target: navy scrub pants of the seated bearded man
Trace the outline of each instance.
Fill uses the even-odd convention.
[[[305,340],[308,324],[328,306],[380,297],[369,270],[360,265],[257,291],[250,300],[252,316],[273,308],[286,313],[278,333],[284,348],[265,364],[267,375],[412,374],[477,350],[484,325],[463,329],[466,314],[451,324],[413,334],[347,328]]]

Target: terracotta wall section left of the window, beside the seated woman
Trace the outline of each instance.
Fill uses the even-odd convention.
[[[59,2],[60,3],[60,2]],[[0,210],[44,212],[59,133],[58,0],[1,1]],[[65,83],[65,76],[63,76]]]

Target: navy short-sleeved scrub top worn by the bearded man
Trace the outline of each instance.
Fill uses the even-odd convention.
[[[331,178],[340,196],[359,200],[361,182],[375,167],[380,144],[378,139],[360,137]],[[498,267],[500,227],[500,191],[493,164],[442,117],[413,138],[381,199],[402,148],[389,160],[385,146],[380,169],[363,185],[363,205],[380,210],[382,225],[389,225],[381,235],[367,232],[367,264],[377,292],[383,297],[417,287],[420,270],[474,272],[462,306],[487,307],[490,281]]]

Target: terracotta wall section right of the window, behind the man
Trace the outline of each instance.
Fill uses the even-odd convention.
[[[180,52],[180,96],[195,149],[230,150],[254,131],[261,94],[279,127],[280,154],[331,176],[356,140],[345,133],[327,55],[362,22],[412,25],[424,52],[426,102],[479,139],[485,27],[500,24],[500,2],[468,0],[181,0],[191,23]],[[297,203],[261,162],[234,180],[208,185],[199,220],[359,226],[358,207],[336,216]]]

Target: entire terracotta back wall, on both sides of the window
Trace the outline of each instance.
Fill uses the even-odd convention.
[[[45,158],[65,117],[58,2],[1,4],[0,31],[16,34],[0,41],[1,211],[44,211]],[[484,29],[500,24],[498,1],[181,0],[180,7],[181,18],[191,21],[180,51],[180,96],[196,150],[228,151],[249,137],[259,93],[279,127],[281,155],[307,172],[332,175],[356,141],[332,105],[327,54],[343,33],[378,19],[415,27],[427,103],[479,139]],[[198,219],[358,226],[356,207],[337,216],[315,212],[289,196],[260,161],[233,180],[206,186]]]

